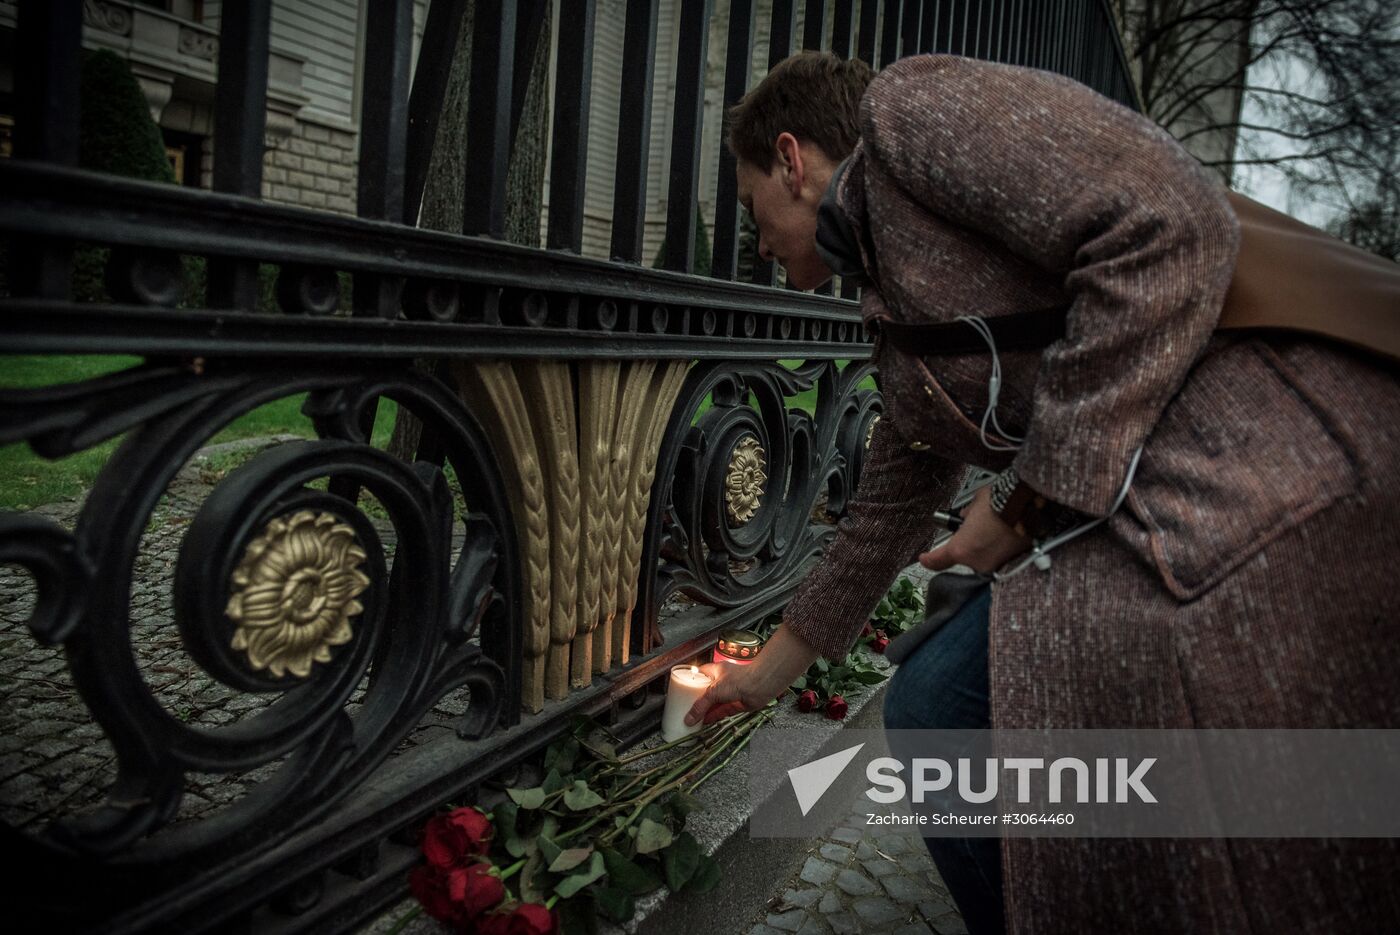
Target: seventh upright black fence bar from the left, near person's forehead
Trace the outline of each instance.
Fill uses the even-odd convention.
[[[704,120],[704,66],[710,43],[711,0],[682,0],[676,50],[676,108],[671,130],[671,185],[666,196],[668,270],[694,267],[696,210],[700,189],[700,126]],[[790,34],[791,35],[791,34]]]

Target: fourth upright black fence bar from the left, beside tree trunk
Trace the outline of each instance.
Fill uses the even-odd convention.
[[[505,172],[511,160],[515,80],[515,0],[476,0],[472,83],[466,104],[468,179],[462,232],[505,235]]]

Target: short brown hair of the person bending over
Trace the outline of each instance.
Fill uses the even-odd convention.
[[[725,143],[735,158],[763,172],[773,168],[784,132],[815,143],[832,161],[844,160],[860,137],[861,98],[874,77],[860,59],[830,52],[788,56],[729,108]]]

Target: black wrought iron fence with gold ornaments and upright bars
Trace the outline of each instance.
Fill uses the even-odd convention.
[[[84,4],[20,6],[15,158],[0,162],[6,353],[141,358],[0,396],[3,444],[62,458],[122,438],[70,525],[0,515],[0,561],[36,586],[7,633],[62,649],[56,703],[81,708],[112,763],[85,796],[7,813],[24,918],[344,928],[402,886],[403,834],[424,813],[489,799],[490,780],[532,768],[571,715],[650,729],[658,675],[784,603],[832,535],[813,509],[840,515],[858,481],[881,402],[850,287],[776,288],[764,263],[735,281],[722,147],[711,266],[692,269],[701,144],[720,133],[703,119],[711,35],[727,105],[795,48],[875,64],[963,53],[1131,101],[1099,0],[729,0],[722,20],[713,0],[676,0],[675,94],[661,99],[662,3],[627,0],[619,87],[591,80],[598,3],[557,4],[545,249],[501,239],[545,3],[433,0],[412,76],[412,0],[364,4],[358,217],[258,197],[272,0],[223,4],[207,192],[76,168]],[[456,235],[414,221],[469,6]],[[608,260],[582,256],[595,92],[622,101]],[[669,175],[654,270],[641,262],[658,108]],[[108,251],[111,301],[73,300],[80,245]],[[195,308],[189,258],[207,270]],[[259,305],[269,272],[277,311]],[[301,393],[314,437],[234,468],[181,519],[171,567],[143,564],[196,451]],[[371,444],[384,400],[423,426],[410,461]],[[153,575],[171,595],[154,623],[133,613]],[[133,648],[141,627],[179,644],[202,691],[252,701],[218,722],[183,717]],[[428,722],[451,735],[414,742]],[[4,771],[28,764],[11,750]],[[239,791],[192,815],[202,774]]]

